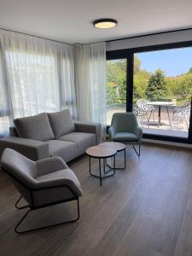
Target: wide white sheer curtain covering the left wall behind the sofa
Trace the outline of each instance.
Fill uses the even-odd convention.
[[[0,31],[0,135],[13,118],[69,108],[76,117],[74,47]]]

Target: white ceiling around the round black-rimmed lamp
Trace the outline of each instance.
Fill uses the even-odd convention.
[[[106,17],[118,26],[92,26]],[[192,27],[192,0],[0,0],[0,27],[71,44],[98,42]]]

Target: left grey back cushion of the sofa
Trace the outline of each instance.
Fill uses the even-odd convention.
[[[15,119],[14,123],[19,137],[42,142],[55,138],[49,124],[47,113],[39,113],[37,115]]]

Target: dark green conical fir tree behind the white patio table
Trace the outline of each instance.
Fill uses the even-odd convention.
[[[160,101],[166,97],[166,79],[165,74],[161,69],[151,73],[148,79],[148,87],[146,95],[151,101]]]

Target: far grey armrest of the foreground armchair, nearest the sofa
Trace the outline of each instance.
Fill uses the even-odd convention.
[[[38,169],[38,176],[68,169],[67,164],[59,156],[38,160],[35,163]]]

